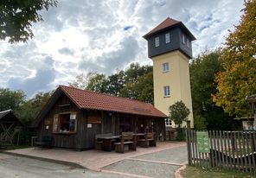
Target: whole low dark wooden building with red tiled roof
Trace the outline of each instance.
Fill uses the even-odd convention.
[[[155,132],[164,137],[164,118],[147,103],[59,86],[32,126],[39,138],[52,137],[53,147],[91,149],[96,134]]]

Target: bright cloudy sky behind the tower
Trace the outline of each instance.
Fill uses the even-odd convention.
[[[193,56],[221,47],[239,24],[243,0],[59,0],[33,24],[26,43],[0,41],[0,87],[28,98],[67,85],[80,73],[152,65],[142,37],[167,17],[195,35]]]

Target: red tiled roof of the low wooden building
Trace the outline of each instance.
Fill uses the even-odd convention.
[[[140,102],[134,99],[114,97],[99,92],[80,90],[70,86],[60,86],[62,92],[77,105],[80,109],[94,109],[101,111],[117,111],[123,113],[138,114],[167,118],[163,112],[157,110],[153,105]]]

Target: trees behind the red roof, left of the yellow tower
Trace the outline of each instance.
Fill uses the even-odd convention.
[[[86,77],[80,74],[69,85],[153,104],[153,68],[138,63],[108,77],[102,73],[89,73]]]

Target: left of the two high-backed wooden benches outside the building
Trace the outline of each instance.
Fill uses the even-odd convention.
[[[116,152],[125,153],[125,145],[128,145],[129,150],[136,150],[136,137],[133,132],[123,132],[120,141],[120,143],[115,143]]]

